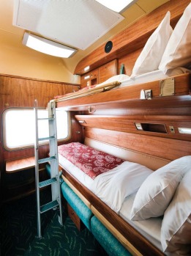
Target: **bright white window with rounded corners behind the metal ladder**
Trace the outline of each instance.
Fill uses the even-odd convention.
[[[48,117],[46,109],[38,110],[38,117]],[[20,150],[34,147],[35,122],[33,108],[9,108],[2,114],[3,145],[6,150]],[[58,141],[70,139],[70,112],[56,109],[56,126]],[[48,136],[48,120],[39,121],[39,137]],[[41,142],[41,145],[48,144]]]

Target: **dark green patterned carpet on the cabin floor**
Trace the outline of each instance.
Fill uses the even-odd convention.
[[[41,200],[50,197],[42,191]],[[42,214],[42,239],[36,238],[35,194],[3,205],[0,215],[1,256],[106,256],[89,230],[78,231],[67,213],[63,211],[63,227],[56,211]]]

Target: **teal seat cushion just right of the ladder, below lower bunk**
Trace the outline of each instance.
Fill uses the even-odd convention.
[[[91,210],[84,204],[82,200],[80,200],[80,197],[78,197],[75,192],[70,189],[70,186],[68,186],[67,183],[64,182],[61,184],[61,192],[75,213],[91,231],[90,221],[91,217],[93,216]]]

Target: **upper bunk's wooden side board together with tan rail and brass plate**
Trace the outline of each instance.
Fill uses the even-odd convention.
[[[56,97],[56,106],[68,111],[89,110],[89,112],[94,109],[191,106],[190,73],[121,88],[119,87],[125,84],[125,81],[121,83],[115,77],[113,79],[116,81],[106,81],[105,84],[91,89],[82,89],[71,95]]]

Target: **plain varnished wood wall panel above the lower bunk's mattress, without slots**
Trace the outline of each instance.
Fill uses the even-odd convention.
[[[99,128],[86,128],[85,136],[118,147],[147,153],[170,161],[191,155],[191,142]]]

